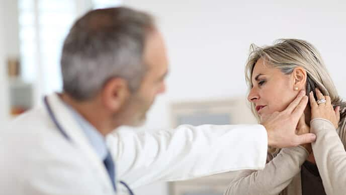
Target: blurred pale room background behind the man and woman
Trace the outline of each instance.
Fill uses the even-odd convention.
[[[346,1],[0,0],[3,125],[40,103],[44,94],[61,90],[61,46],[76,18],[113,6],[153,14],[168,49],[167,92],[156,99],[138,131],[187,122],[255,122],[245,105],[249,45],[269,45],[278,38],[315,45],[340,96],[346,97]],[[197,189],[201,184],[196,183],[154,183],[135,193],[220,194],[206,184]]]

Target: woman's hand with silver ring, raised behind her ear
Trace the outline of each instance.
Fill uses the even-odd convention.
[[[324,118],[333,123],[336,129],[340,120],[340,107],[337,106],[335,109],[333,109],[333,106],[330,102],[330,97],[323,96],[323,94],[317,88],[316,96],[318,100],[325,99],[326,102],[317,104],[312,92],[310,92],[309,96],[311,106],[311,120],[314,118]]]

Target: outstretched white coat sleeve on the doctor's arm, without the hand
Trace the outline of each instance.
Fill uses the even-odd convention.
[[[267,133],[262,125],[181,125],[169,131],[118,131],[107,140],[118,180],[138,187],[241,169],[263,169]]]

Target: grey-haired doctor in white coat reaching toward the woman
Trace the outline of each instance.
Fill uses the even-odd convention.
[[[4,194],[131,194],[129,186],[157,180],[262,169],[268,145],[314,141],[295,135],[304,94],[263,125],[118,132],[144,121],[165,90],[167,64],[162,37],[145,13],[111,8],[76,21],[62,50],[63,93],[45,97],[0,134]]]

